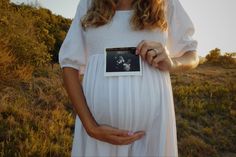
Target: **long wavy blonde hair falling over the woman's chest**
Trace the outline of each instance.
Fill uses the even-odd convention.
[[[92,0],[92,4],[81,19],[84,29],[109,23],[116,12],[118,0]],[[134,14],[130,24],[134,30],[167,29],[165,0],[133,0]]]

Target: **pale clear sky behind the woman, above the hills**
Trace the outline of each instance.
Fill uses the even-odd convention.
[[[30,3],[35,0],[12,0]],[[67,18],[73,18],[79,0],[38,0],[42,7]],[[200,56],[214,49],[236,52],[236,0],[179,0],[195,26]]]

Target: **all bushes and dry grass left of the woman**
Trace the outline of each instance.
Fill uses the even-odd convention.
[[[0,0],[0,156],[69,156],[74,115],[49,65],[70,23]]]

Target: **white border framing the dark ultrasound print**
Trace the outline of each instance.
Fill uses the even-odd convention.
[[[106,67],[107,67],[107,51],[106,49],[120,49],[120,48],[132,48],[132,47],[106,47],[104,48],[104,76],[142,76],[142,60],[141,56],[139,56],[139,71],[124,71],[124,72],[107,72]],[[126,50],[127,51],[127,50]]]

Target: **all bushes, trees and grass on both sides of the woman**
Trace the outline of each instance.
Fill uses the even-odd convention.
[[[0,0],[0,157],[70,156],[75,114],[57,53],[71,20]],[[180,157],[236,154],[235,53],[171,74]]]

